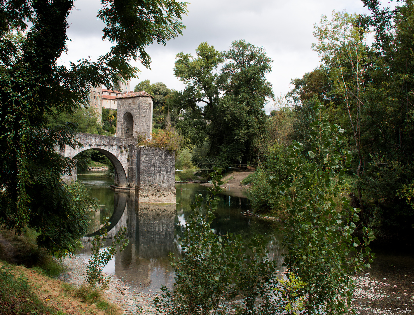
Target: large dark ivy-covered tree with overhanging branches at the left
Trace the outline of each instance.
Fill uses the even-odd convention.
[[[41,219],[48,216],[65,222],[71,211],[77,211],[72,207],[73,195],[60,179],[75,162],[57,154],[55,147],[79,143],[70,126],[46,130],[45,114],[52,108],[71,113],[78,104],[87,105],[90,87],[103,84],[112,89],[119,74],[130,79],[137,72],[128,63],[131,59],[149,67],[145,47],[154,41],[165,45],[184,27],[181,16],[186,2],[102,0],[101,4],[98,18],[106,24],[103,39],[114,45],[96,62],[80,60],[70,68],[58,66],[57,59],[66,49],[72,0],[10,0],[2,1],[0,9],[0,222],[17,232],[34,228],[41,233],[42,244],[63,255],[74,250],[72,243],[61,237],[62,229]],[[25,37],[16,40],[11,34],[19,31],[25,31]],[[50,195],[46,198],[42,191]],[[70,220],[73,228],[67,233],[74,239],[82,236],[82,224]]]

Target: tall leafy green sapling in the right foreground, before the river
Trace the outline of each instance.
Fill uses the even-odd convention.
[[[281,193],[280,208],[288,219],[283,228],[283,244],[288,253],[284,265],[306,282],[305,312],[344,314],[351,307],[354,284],[351,275],[370,267],[374,253],[368,244],[374,236],[362,227],[363,241],[353,236],[360,224],[360,209],[349,207],[343,197],[336,204],[344,185],[344,167],[351,154],[341,151],[343,129],[330,124],[322,106],[314,108],[318,121],[311,124],[313,140],[303,156],[303,146],[289,146],[288,172],[291,177],[274,183]]]

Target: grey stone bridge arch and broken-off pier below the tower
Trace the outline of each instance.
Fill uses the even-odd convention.
[[[77,133],[83,147],[66,146],[60,152],[65,157],[94,149],[105,155],[115,168],[114,190],[131,190],[141,202],[175,203],[175,153],[167,149],[139,146],[137,140],[89,133]],[[64,176],[66,182],[76,180],[77,170]]]

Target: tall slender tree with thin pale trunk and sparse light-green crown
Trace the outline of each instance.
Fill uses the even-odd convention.
[[[314,35],[318,44],[313,44],[329,72],[342,104],[345,105],[355,151],[359,159],[356,176],[361,178],[365,166],[361,142],[361,111],[366,105],[366,80],[372,62],[372,56],[365,43],[367,29],[356,26],[356,14],[333,12],[332,21],[322,16],[320,26],[315,24]],[[357,185],[359,205],[364,210],[361,185]]]

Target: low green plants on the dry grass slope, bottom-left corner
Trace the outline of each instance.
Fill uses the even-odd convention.
[[[43,304],[27,283],[28,278],[12,273],[12,267],[0,267],[0,314],[54,314],[54,308]]]

